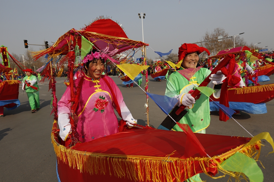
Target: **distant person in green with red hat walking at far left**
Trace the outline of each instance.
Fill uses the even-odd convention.
[[[37,85],[37,78],[32,73],[31,69],[24,69],[26,76],[23,79],[22,90],[26,90],[30,102],[32,113],[36,113],[40,108],[39,86]]]

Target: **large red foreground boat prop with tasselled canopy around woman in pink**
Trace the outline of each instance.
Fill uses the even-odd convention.
[[[96,29],[97,25],[100,29]],[[102,34],[101,31],[104,30],[101,28],[102,26],[111,32]],[[79,93],[73,91],[73,67],[80,59],[80,53],[77,53],[77,50],[81,48],[83,36],[99,50],[107,48],[106,54],[114,50],[114,54],[131,53],[133,50],[133,52],[144,51],[142,52],[145,58],[144,64],[147,63],[145,46],[148,44],[128,39],[116,22],[104,18],[97,19],[81,30],[71,29],[61,36],[51,48],[33,52],[34,59],[48,54],[48,62],[43,68],[45,69],[49,65],[51,73],[52,113],[54,112],[51,140],[57,156],[58,181],[179,182],[199,173],[220,178],[214,177],[219,171],[238,180],[246,180],[247,177],[256,182],[263,180],[262,171],[255,160],[258,160],[259,157],[261,139],[269,141],[274,148],[273,140],[267,132],[252,138],[231,137],[193,133],[188,125],[184,126],[185,132],[156,130],[149,127],[149,120],[146,127],[136,125],[133,128],[127,128],[125,122],[121,120],[118,133],[86,143],[73,143],[73,140],[71,143],[67,143],[67,141],[61,140],[58,135],[60,129],[57,125],[58,108],[54,76],[56,73],[52,69],[52,62],[68,63],[69,86],[72,87],[71,95],[73,99],[76,98]],[[64,57],[60,58],[61,55]],[[111,56],[109,59],[119,66]],[[59,66],[61,66],[60,63]],[[148,92],[148,74],[147,71],[145,72],[145,91]],[[132,78],[129,72],[127,75],[134,79],[134,76]],[[146,99],[148,104],[148,94],[146,94]],[[74,104],[72,102],[72,116],[74,115]],[[147,119],[148,110],[147,106]],[[71,117],[70,124],[72,126],[71,133],[73,133],[75,131],[73,117]],[[73,135],[70,137],[73,138]],[[125,142],[125,139],[134,142]],[[246,166],[243,166],[241,162]],[[246,173],[247,170],[255,171],[256,175],[249,175]]]

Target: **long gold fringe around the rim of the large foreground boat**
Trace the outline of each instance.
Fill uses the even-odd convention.
[[[53,131],[55,129],[56,128],[53,128]],[[218,156],[213,156],[212,158],[196,157],[180,159],[170,157],[174,154],[175,151],[167,155],[166,157],[90,153],[68,149],[60,145],[56,142],[53,134],[51,136],[51,141],[53,143],[54,151],[56,153],[56,156],[58,157],[58,160],[63,161],[65,164],[68,164],[69,167],[72,167],[73,169],[80,170],[81,173],[88,172],[91,175],[106,175],[108,167],[110,173],[109,175],[112,175],[112,166],[115,177],[128,177],[128,179],[135,181],[152,180],[154,182],[173,182],[172,176],[175,177],[177,182],[188,179],[187,174],[191,174],[192,169],[194,169],[194,173],[196,174],[195,166],[193,166],[195,165],[195,161],[199,162],[199,165],[202,168],[203,172],[208,176],[210,175],[206,171],[207,167],[216,167],[224,174],[220,177],[210,176],[214,179],[224,177],[226,174],[238,180],[245,179],[244,174],[224,170],[220,167],[220,164],[236,152],[241,152],[248,157],[252,157],[255,160],[258,160],[261,150],[261,143],[260,141],[258,141],[257,143],[254,143],[248,147],[244,147],[245,144],[243,144],[226,153]],[[257,150],[256,147],[259,147],[259,150]],[[242,175],[243,178],[240,177],[240,175]]]

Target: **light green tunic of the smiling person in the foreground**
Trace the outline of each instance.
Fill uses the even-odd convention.
[[[184,68],[180,68],[184,69]],[[166,96],[178,98],[180,94],[188,93],[191,89],[195,89],[195,86],[199,86],[200,83],[206,79],[211,71],[206,68],[199,69],[188,81],[179,72],[173,72],[167,80]],[[188,113],[179,121],[182,124],[188,124],[193,132],[199,132],[206,129],[210,123],[210,108],[209,98],[201,94],[200,98],[196,100],[192,109],[188,109]],[[176,124],[173,127],[175,131],[182,131]]]

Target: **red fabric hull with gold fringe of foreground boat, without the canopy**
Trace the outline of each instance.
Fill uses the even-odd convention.
[[[147,127],[66,148],[60,143],[54,122],[51,139],[61,181],[184,181],[198,173],[211,177],[219,171],[227,174],[221,163],[237,152],[259,157],[261,143],[250,144],[251,138],[200,133],[195,136],[211,157],[198,153],[185,157],[184,132]]]

